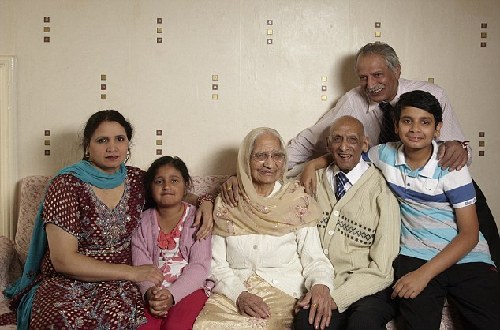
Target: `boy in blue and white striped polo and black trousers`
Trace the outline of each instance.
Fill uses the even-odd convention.
[[[448,171],[438,165],[435,138],[442,108],[430,93],[401,95],[395,106],[400,142],[375,146],[370,160],[398,197],[401,250],[392,298],[411,329],[438,329],[447,297],[469,324],[496,329],[500,324],[500,282],[475,208],[467,167]]]

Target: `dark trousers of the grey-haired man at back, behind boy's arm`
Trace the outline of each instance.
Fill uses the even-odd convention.
[[[500,237],[498,235],[498,227],[481,188],[479,188],[476,181],[473,180],[472,183],[476,188],[476,212],[479,220],[479,231],[488,243],[491,259],[497,268],[500,269]]]

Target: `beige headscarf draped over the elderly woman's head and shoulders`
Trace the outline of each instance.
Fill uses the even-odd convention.
[[[254,142],[263,133],[270,133],[284,142],[279,133],[271,128],[256,128],[247,134],[238,152],[237,178],[240,190],[238,206],[224,203],[219,194],[215,201],[213,233],[220,236],[267,234],[282,236],[305,226],[315,226],[321,211],[316,202],[304,192],[298,181],[284,181],[281,189],[271,197],[257,194],[252,183],[250,157]],[[288,157],[283,168],[286,169]]]

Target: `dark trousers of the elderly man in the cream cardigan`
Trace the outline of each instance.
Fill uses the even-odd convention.
[[[361,298],[343,313],[332,311],[328,330],[385,330],[386,324],[395,315],[395,304],[391,300],[391,288]],[[302,309],[293,322],[294,329],[314,329],[309,324],[309,310]]]

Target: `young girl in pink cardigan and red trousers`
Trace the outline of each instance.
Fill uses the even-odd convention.
[[[144,177],[146,205],[132,236],[134,265],[154,264],[160,287],[141,282],[148,322],[139,329],[191,329],[207,300],[211,240],[195,240],[196,208],[182,201],[191,184],[186,164],[163,156]]]

